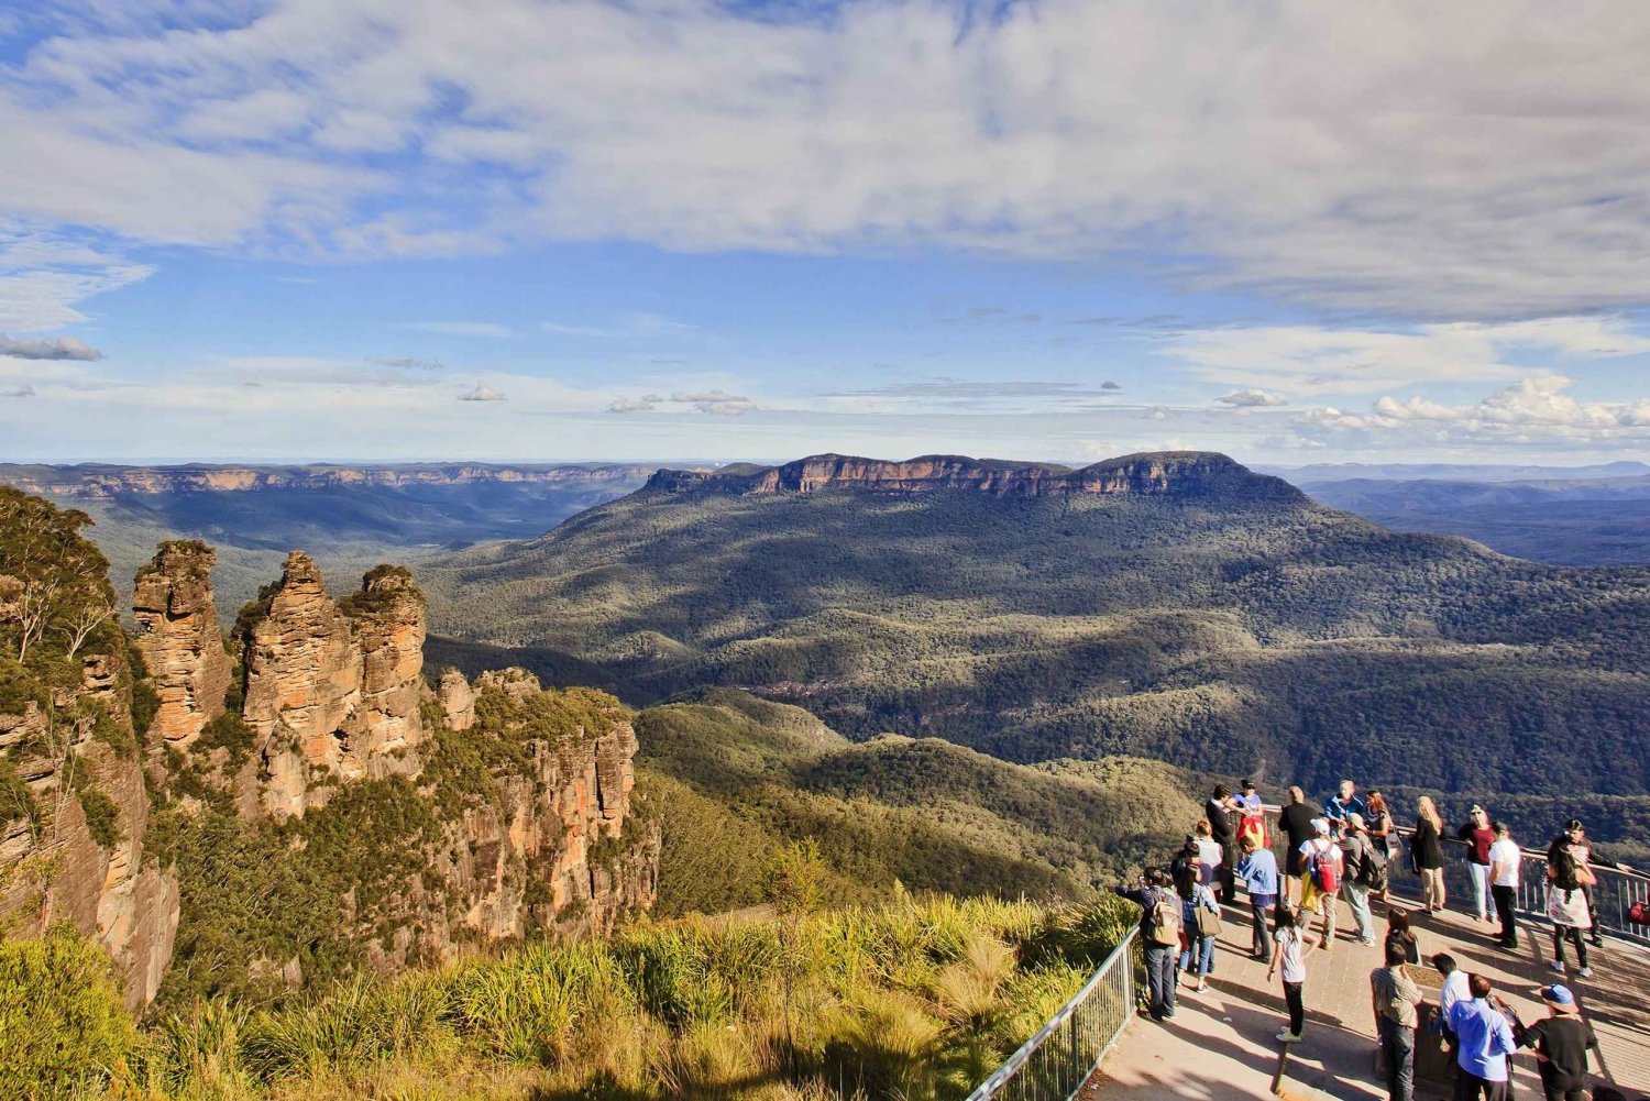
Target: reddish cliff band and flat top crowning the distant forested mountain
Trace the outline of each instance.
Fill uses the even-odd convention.
[[[863,490],[922,494],[972,490],[993,495],[1127,494],[1140,497],[1218,497],[1247,500],[1305,500],[1299,490],[1228,459],[1203,451],[1168,451],[1107,459],[1082,469],[1046,462],[1003,462],[967,456],[922,456],[901,462],[851,456],[812,456],[779,467],[736,464],[711,470],[658,470],[647,482],[655,492],[719,492],[736,495]]]

